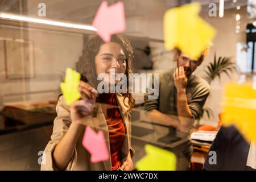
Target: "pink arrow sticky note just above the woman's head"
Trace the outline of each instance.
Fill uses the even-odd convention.
[[[125,31],[125,6],[117,2],[108,7],[108,2],[103,1],[94,17],[93,27],[105,42],[110,42],[111,35]]]

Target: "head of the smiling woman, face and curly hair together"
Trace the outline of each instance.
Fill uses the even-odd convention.
[[[125,36],[112,35],[110,43],[104,43],[100,36],[94,36],[76,62],[76,71],[81,73],[82,81],[97,88],[100,82],[97,80],[97,76],[100,73],[107,73],[110,76],[110,69],[116,73],[124,73],[126,77],[129,76],[129,73],[133,73],[131,70],[132,58],[133,48]],[[129,79],[127,79],[126,85],[131,85]],[[128,98],[129,107],[133,108],[134,100],[131,93],[127,91],[127,93],[122,93],[122,96]]]

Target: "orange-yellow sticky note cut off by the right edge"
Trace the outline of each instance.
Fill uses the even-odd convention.
[[[256,90],[253,84],[225,85],[222,110],[223,125],[235,125],[249,142],[256,142]]]

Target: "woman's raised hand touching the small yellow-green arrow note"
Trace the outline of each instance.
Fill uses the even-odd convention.
[[[98,92],[84,81],[80,81],[78,90],[81,98],[70,106],[71,120],[83,124],[85,118],[92,114]]]

